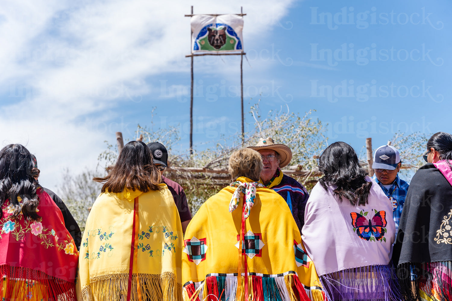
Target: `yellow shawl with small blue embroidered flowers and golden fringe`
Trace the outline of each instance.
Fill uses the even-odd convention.
[[[80,247],[79,301],[125,300],[129,278],[134,199],[138,197],[136,261],[131,300],[179,301],[182,227],[173,196],[159,191],[103,193],[86,221]]]

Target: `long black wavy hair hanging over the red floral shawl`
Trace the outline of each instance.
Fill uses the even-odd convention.
[[[33,178],[34,163],[27,148],[21,144],[9,144],[0,151],[0,208],[9,199],[14,208],[13,216],[18,217],[20,211],[25,218],[37,220],[36,208],[39,198],[36,190],[40,187]],[[22,198],[22,206],[17,197]],[[0,210],[0,217],[3,212]]]

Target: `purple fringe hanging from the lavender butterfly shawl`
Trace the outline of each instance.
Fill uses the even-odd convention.
[[[319,278],[328,301],[400,300],[392,264],[345,269]]]

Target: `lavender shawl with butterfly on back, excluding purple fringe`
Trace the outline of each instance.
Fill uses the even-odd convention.
[[[344,269],[386,265],[391,260],[392,244],[395,240],[392,206],[375,181],[368,176],[366,181],[372,182],[372,188],[368,204],[364,206],[353,206],[344,198],[340,202],[330,187],[327,192],[320,183],[312,189],[306,204],[301,237],[319,276]],[[376,215],[375,210],[386,213],[386,233],[383,235],[386,240],[378,241],[372,235],[367,241],[358,236],[359,229],[353,227],[350,213],[362,212],[361,220],[365,218],[368,224],[369,219],[372,220]]]

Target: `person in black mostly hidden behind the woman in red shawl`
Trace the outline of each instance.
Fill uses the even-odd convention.
[[[39,183],[38,178],[41,171],[38,169],[38,161],[36,160],[36,157],[33,154],[31,156],[34,164],[33,177]],[[63,200],[60,199],[60,197],[56,195],[55,192],[45,187],[42,187],[42,189],[45,192],[47,192],[50,198],[55,202],[56,206],[58,206],[58,208],[61,210],[61,213],[63,214],[64,225],[67,231],[69,231],[69,234],[71,234],[72,238],[74,239],[77,250],[80,250],[80,244],[82,241],[82,232],[80,231],[79,225],[72,216],[71,211],[69,211],[69,209],[66,207],[66,204],[64,204]]]

